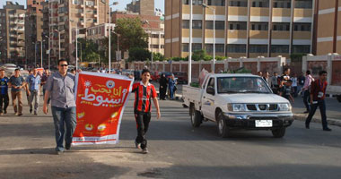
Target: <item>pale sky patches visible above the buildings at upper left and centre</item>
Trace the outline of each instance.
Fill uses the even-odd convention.
[[[13,3],[18,2],[18,4],[24,4],[26,6],[26,0],[0,0],[0,8],[3,8],[3,5],[6,4],[6,1],[12,1]],[[118,1],[118,6],[112,7],[115,10],[125,10],[126,5],[131,3],[132,0],[109,0],[110,3],[114,1]],[[162,13],[164,13],[164,0],[154,0],[155,1],[155,8],[161,9]]]

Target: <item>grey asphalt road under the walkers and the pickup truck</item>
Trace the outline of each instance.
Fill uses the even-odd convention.
[[[192,128],[188,108],[161,101],[162,119],[153,114],[147,133],[150,153],[135,149],[133,98],[123,115],[118,145],[73,147],[55,155],[51,115],[0,116],[0,178],[340,178],[341,128],[304,129],[300,121],[284,139],[271,132],[217,136],[211,122]],[[24,103],[27,104],[27,103]],[[40,108],[41,109],[41,108]]]

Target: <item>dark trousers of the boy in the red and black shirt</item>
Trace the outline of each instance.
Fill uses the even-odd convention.
[[[145,133],[148,131],[149,122],[151,122],[151,113],[135,112],[135,120],[137,127],[136,143],[141,143],[141,148],[147,147]]]

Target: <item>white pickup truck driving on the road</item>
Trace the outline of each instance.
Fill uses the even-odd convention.
[[[252,74],[207,74],[200,88],[183,87],[193,127],[217,123],[218,133],[229,137],[234,129],[271,130],[282,138],[293,124],[290,102],[273,94],[263,78]]]

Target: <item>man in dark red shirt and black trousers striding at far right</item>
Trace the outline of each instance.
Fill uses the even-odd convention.
[[[310,112],[305,121],[305,128],[309,129],[309,124],[313,115],[315,115],[316,109],[319,107],[319,113],[322,118],[323,131],[330,132],[328,128],[327,115],[326,115],[326,89],[327,89],[327,72],[319,72],[319,79],[311,83],[310,88]]]

